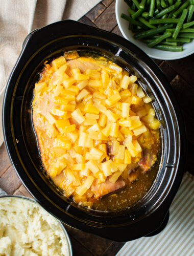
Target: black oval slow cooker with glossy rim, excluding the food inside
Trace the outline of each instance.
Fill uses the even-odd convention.
[[[141,86],[153,99],[161,123],[161,161],[151,189],[131,207],[103,212],[79,206],[65,198],[45,176],[31,120],[33,87],[45,60],[71,50],[112,59],[137,75]],[[30,33],[7,83],[3,129],[9,157],[23,185],[61,222],[118,242],[152,236],[166,225],[169,206],[184,172],[185,126],[164,74],[130,41],[73,20],[62,20]]]

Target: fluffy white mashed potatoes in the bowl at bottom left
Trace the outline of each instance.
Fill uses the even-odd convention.
[[[58,221],[36,203],[0,198],[1,256],[69,256]]]

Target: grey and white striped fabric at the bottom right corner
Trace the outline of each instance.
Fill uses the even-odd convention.
[[[194,177],[184,174],[166,228],[154,237],[127,242],[116,256],[194,256]]]

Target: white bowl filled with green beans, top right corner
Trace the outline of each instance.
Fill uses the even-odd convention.
[[[194,53],[194,0],[116,0],[123,36],[156,59]]]

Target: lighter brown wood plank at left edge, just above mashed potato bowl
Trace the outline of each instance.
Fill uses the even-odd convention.
[[[7,194],[13,194],[14,191],[21,185],[21,181],[12,166],[0,178],[0,187],[6,191]]]

